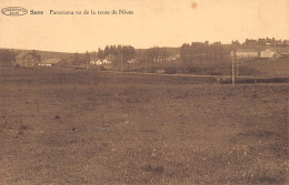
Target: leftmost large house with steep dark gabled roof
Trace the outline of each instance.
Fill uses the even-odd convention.
[[[40,56],[32,51],[23,51],[16,56],[13,62],[14,66],[23,68],[38,68],[40,63]]]

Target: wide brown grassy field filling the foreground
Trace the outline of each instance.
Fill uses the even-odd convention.
[[[1,69],[0,184],[288,184],[288,84]]]

